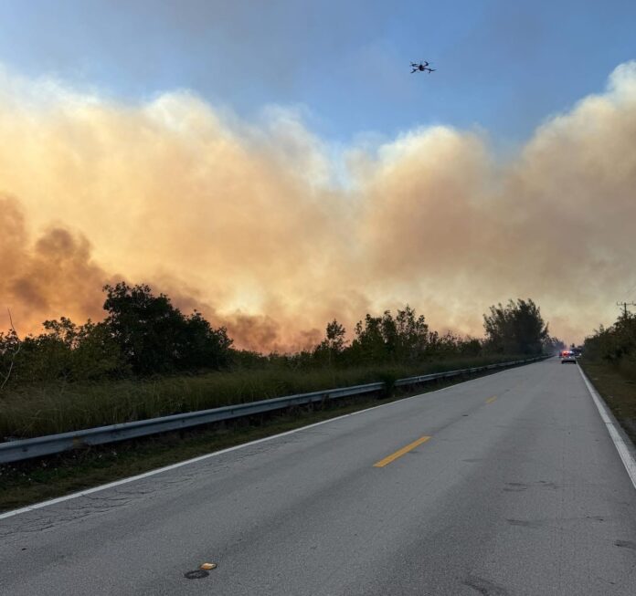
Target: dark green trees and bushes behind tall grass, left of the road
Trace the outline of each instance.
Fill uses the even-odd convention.
[[[337,320],[311,350],[260,354],[237,350],[224,327],[213,328],[201,313],[185,315],[164,294],[124,282],[103,288],[106,316],[77,325],[66,317],[47,320],[43,332],[19,338],[0,332],[0,388],[26,382],[101,381],[151,375],[227,370],[232,367],[354,367],[419,363],[487,354],[535,355],[552,350],[540,309],[531,299],[510,300],[483,316],[484,338],[429,329],[408,305],[394,315],[366,314],[354,337]]]

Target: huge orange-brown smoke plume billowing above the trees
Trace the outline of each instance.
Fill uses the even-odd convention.
[[[293,110],[254,124],[186,91],[122,103],[5,70],[0,138],[0,305],[22,333],[100,319],[126,279],[255,350],[407,302],[479,336],[517,297],[580,340],[636,283],[636,63],[505,158],[446,126],[334,157]]]

